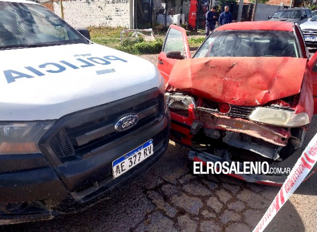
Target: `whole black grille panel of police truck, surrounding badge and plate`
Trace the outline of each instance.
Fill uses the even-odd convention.
[[[61,117],[39,146],[75,199],[82,201],[113,180],[114,160],[139,145],[152,139],[153,157],[162,154],[169,131],[165,109],[163,93],[153,88]],[[137,123],[128,130],[116,130],[115,124],[127,115],[137,115]]]

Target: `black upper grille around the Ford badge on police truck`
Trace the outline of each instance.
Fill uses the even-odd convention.
[[[72,157],[75,160],[116,140],[118,136],[158,120],[160,107],[162,108],[159,105],[160,96],[154,98],[152,96],[150,94],[147,98],[141,99],[131,97],[123,107],[114,102],[65,116],[62,118],[65,123],[49,140],[52,150],[62,162],[69,161]],[[89,113],[90,111],[93,113]],[[136,125],[127,131],[116,131],[114,125],[118,119],[129,114],[138,115],[139,120]]]

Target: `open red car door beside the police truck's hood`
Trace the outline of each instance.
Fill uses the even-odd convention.
[[[169,54],[176,54],[177,52],[181,53],[177,58],[175,56],[174,58],[169,56]],[[164,77],[165,83],[177,59],[185,58],[191,58],[186,30],[179,26],[171,25],[166,33],[162,52],[159,54],[157,64],[157,68]]]

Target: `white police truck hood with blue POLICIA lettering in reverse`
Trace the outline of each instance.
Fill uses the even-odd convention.
[[[1,121],[57,119],[161,85],[150,62],[98,44],[0,53]]]

